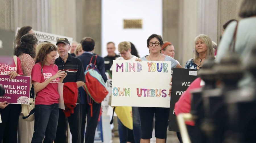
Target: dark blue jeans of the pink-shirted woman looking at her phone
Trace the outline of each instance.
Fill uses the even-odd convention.
[[[34,134],[31,143],[52,143],[56,137],[59,105],[36,105]]]

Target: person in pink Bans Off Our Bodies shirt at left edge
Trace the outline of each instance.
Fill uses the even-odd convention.
[[[10,75],[10,79],[14,79],[18,75],[23,75],[20,59],[16,56],[9,59],[1,57],[0,74]],[[11,71],[15,69],[14,71]],[[20,116],[20,104],[9,104],[7,101],[0,103],[0,114],[2,123],[0,123],[0,142],[16,143],[17,142],[17,127]]]

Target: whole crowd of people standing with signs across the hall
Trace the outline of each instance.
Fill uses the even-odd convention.
[[[246,56],[256,45],[255,7],[255,1],[243,1],[239,13],[243,19],[240,21],[232,20],[232,22],[225,24],[226,30],[218,48],[216,43],[207,35],[200,34],[195,37],[194,57],[188,59],[184,68],[199,70],[207,59],[214,59],[215,56],[216,62],[220,62],[220,59],[229,51],[228,48],[234,40],[232,37],[236,30],[234,51],[244,59],[243,62],[246,62]],[[34,31],[30,26],[20,28],[16,35],[15,56],[13,56],[13,62],[9,63],[15,70],[6,69],[6,72],[11,79],[16,78],[16,76],[31,77],[31,83],[37,93],[35,119],[31,122],[22,119],[21,108],[26,105],[10,104],[7,101],[0,103],[2,120],[2,123],[0,123],[0,142],[67,142],[67,123],[69,124],[73,143],[94,142],[101,103],[92,102],[92,105],[90,105],[90,97],[81,87],[86,82],[84,71],[96,48],[94,39],[84,37],[80,43],[70,43],[66,38],[59,38],[56,44],[47,41],[38,44],[38,39],[33,33]],[[149,54],[139,58],[133,43],[129,41],[120,42],[118,44],[118,55],[115,54],[115,44],[108,42],[108,56],[104,58],[97,56],[96,58],[96,66],[104,82],[107,81],[105,72],[112,70],[113,60],[171,61],[172,69],[182,68],[179,62],[174,59],[175,49],[171,42],[163,42],[160,35],[152,34],[145,43],[148,48],[145,48],[145,50],[149,50]],[[57,54],[59,54],[58,58],[56,58]],[[2,63],[0,62],[0,64]],[[250,81],[251,75],[246,74],[241,86],[252,85]],[[59,85],[63,86],[63,90],[65,90],[63,96],[72,100],[72,106],[65,106],[65,109],[68,110],[59,108]],[[191,93],[189,91],[192,88],[201,88],[201,79],[196,79],[191,85],[187,89],[188,92],[185,92],[176,103],[175,114],[190,112]],[[125,127],[120,121],[120,117],[117,117],[114,121],[117,125],[114,125],[113,132],[118,130],[121,143],[149,143],[153,128],[155,129],[156,142],[166,142],[169,108],[132,107],[132,115],[133,130]],[[187,122],[186,124],[193,142],[194,123]],[[177,133],[177,135],[179,134]],[[179,140],[182,142],[180,136]]]

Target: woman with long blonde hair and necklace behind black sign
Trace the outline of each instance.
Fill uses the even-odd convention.
[[[214,58],[212,40],[200,34],[195,38],[194,58],[189,59],[185,69],[201,69],[205,59]]]

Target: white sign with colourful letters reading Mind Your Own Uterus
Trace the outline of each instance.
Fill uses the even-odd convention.
[[[113,60],[112,106],[170,107],[170,61]]]

